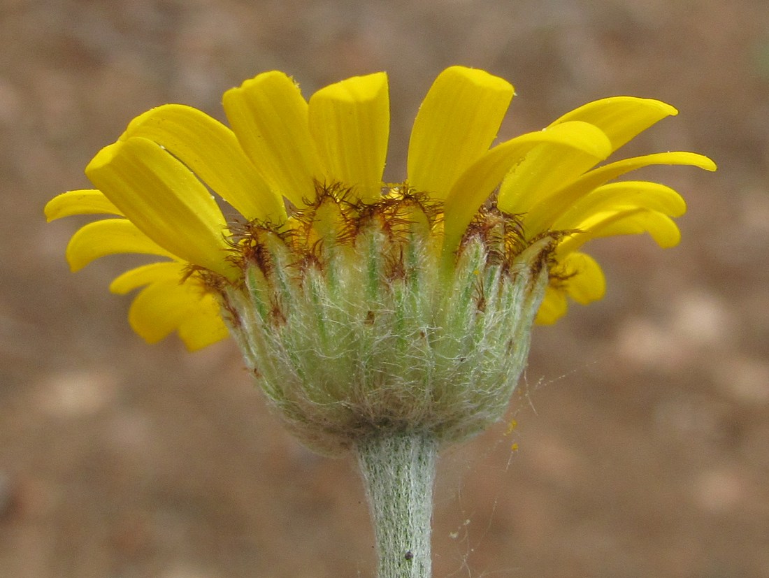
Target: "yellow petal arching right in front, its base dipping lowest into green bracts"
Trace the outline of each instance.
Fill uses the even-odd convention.
[[[537,147],[541,148],[540,158],[582,153],[600,160],[611,152],[608,138],[600,129],[579,121],[566,122],[498,144],[464,171],[446,198],[444,258],[453,254],[473,215],[504,175]],[[511,212],[504,198],[498,199],[498,206],[502,211]]]

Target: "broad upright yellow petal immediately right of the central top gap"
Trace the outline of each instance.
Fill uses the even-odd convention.
[[[497,136],[512,85],[482,70],[452,66],[424,98],[408,144],[408,182],[446,198],[459,176]]]

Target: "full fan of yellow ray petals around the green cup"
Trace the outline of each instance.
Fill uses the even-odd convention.
[[[647,98],[594,101],[542,131],[492,147],[513,94],[507,81],[481,70],[443,71],[414,121],[407,179],[394,186],[382,182],[389,130],[384,73],[348,78],[308,102],[287,75],[265,72],[225,93],[231,128],[184,105],[135,118],[88,164],[86,174],[98,190],[61,194],[45,214],[49,221],[72,214],[115,217],[75,233],[67,247],[73,271],[107,254],[163,257],[127,271],[111,290],[144,287],[131,305],[131,326],[149,342],[178,331],[194,350],[227,331],[218,301],[190,266],[238,282],[243,273],[230,251],[235,220],[299,228],[288,215],[314,207],[318,191],[344,191],[347,204],[376,204],[414,191],[431,206],[430,234],[445,268],[478,211],[495,204],[517,219],[524,241],[563,233],[548,260],[550,283],[537,320],[551,323],[566,311],[567,296],[586,304],[604,294],[601,267],[580,251],[586,241],[644,231],[663,247],[678,241],[671,217],[685,204],[675,191],[647,181],[611,181],[650,164],[715,167],[699,154],[666,152],[595,168],[676,114]],[[239,215],[230,211],[225,218],[209,190]],[[323,228],[340,225],[331,215],[313,224],[321,236],[328,233]]]

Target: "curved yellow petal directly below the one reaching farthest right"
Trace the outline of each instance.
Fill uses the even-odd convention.
[[[680,194],[664,184],[649,181],[609,183],[574,203],[553,223],[553,228],[579,228],[580,224],[593,214],[626,208],[644,208],[671,217],[680,217],[686,212],[686,202]]]

